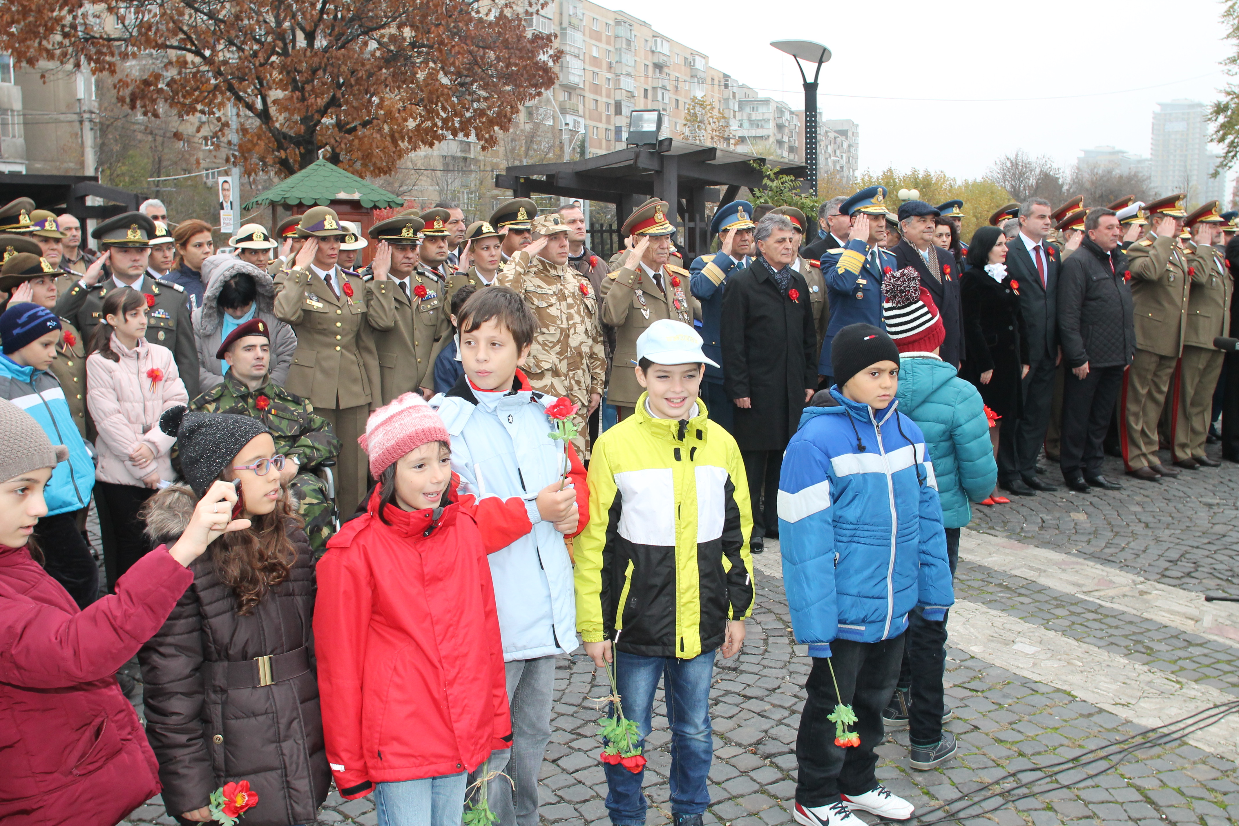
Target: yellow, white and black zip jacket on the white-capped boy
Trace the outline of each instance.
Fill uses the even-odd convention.
[[[740,448],[706,419],[655,419],[646,394],[590,459],[576,537],[576,627],[643,656],[691,659],[753,608],[752,514]]]

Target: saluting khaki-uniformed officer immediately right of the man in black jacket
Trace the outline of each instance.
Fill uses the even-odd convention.
[[[1192,276],[1176,238],[1186,217],[1184,197],[1181,192],[1149,203],[1145,208],[1155,229],[1127,248],[1136,354],[1123,376],[1119,440],[1127,473],[1147,482],[1182,473],[1163,466],[1157,456],[1157,422],[1187,331]]]

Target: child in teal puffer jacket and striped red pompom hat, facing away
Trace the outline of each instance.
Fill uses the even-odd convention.
[[[945,337],[942,318],[921,276],[912,267],[882,280],[886,328],[900,349],[900,412],[917,422],[933,457],[942,521],[947,534],[947,557],[955,573],[959,557],[959,529],[973,518],[969,499],[990,495],[997,477],[990,443],[985,402],[971,383],[955,375],[955,368],[938,358]],[[903,667],[891,702],[882,712],[890,728],[909,727],[911,765],[928,770],[955,753],[955,737],[942,724],[953,716],[943,702],[947,619],[929,620],[922,612],[908,614],[903,644]]]

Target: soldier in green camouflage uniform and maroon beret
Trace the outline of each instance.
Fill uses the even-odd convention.
[[[229,364],[223,383],[190,402],[190,409],[252,416],[270,428],[276,452],[285,457],[285,484],[305,520],[310,547],[321,555],[335,533],[336,504],[315,472],[323,462],[335,463],[339,440],[313,405],[271,380],[270,333],[261,318],[234,329],[219,343],[216,358]]]

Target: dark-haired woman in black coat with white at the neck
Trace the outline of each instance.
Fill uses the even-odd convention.
[[[973,235],[959,289],[968,353],[960,375],[976,385],[985,405],[1000,417],[990,430],[997,456],[1004,450],[1014,451],[1015,422],[1023,416],[1022,380],[1028,373],[1020,282],[1006,271],[1006,237],[997,227],[981,227]],[[1009,502],[997,495],[997,488],[991,499]]]

